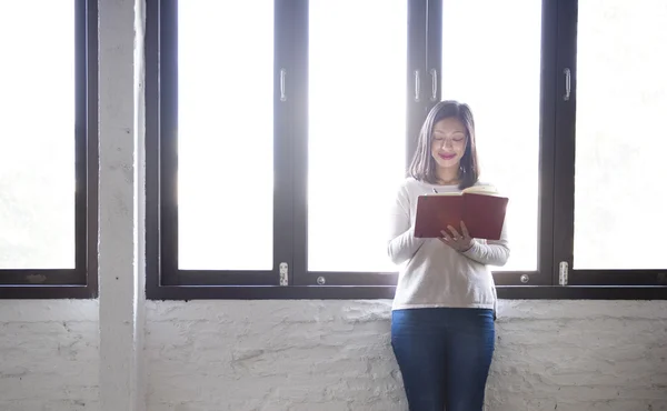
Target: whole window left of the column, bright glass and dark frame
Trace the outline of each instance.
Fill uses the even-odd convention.
[[[94,1],[0,6],[0,298],[90,298],[97,278]],[[26,22],[30,22],[27,26]],[[28,29],[29,28],[29,29]],[[20,33],[20,36],[17,36]],[[48,64],[44,64],[48,62]],[[94,157],[91,157],[93,159]],[[94,264],[90,267],[94,268]]]

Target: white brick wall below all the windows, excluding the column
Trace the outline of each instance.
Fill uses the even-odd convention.
[[[147,308],[149,411],[405,410],[388,301]],[[98,309],[0,301],[1,411],[100,411]],[[666,312],[667,301],[504,301],[487,409],[667,410]]]

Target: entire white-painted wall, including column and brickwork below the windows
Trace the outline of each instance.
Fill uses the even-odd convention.
[[[143,134],[127,111],[142,9],[101,3],[100,300],[0,301],[0,410],[405,410],[389,301],[143,303]],[[488,409],[667,410],[666,310],[504,301]]]

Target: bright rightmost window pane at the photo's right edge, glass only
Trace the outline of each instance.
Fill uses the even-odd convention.
[[[579,1],[577,269],[665,269],[667,2]]]

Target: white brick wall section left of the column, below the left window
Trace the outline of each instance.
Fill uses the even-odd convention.
[[[97,301],[0,301],[0,410],[98,411]]]

